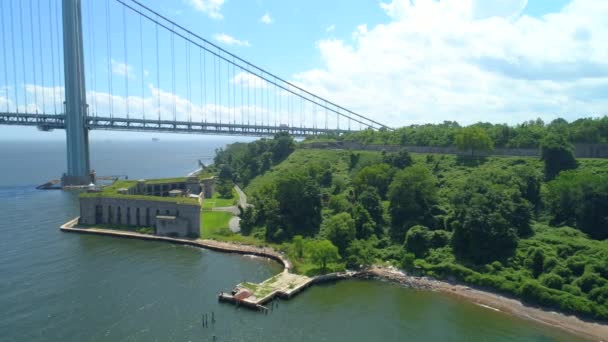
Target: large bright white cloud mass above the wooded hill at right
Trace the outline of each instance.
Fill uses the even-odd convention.
[[[538,18],[521,15],[525,3],[382,3],[389,22],[319,41],[323,66],[294,78],[394,126],[607,114],[608,1]]]

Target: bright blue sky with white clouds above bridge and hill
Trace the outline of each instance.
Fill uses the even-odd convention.
[[[0,63],[4,73],[0,75],[0,88],[5,90],[5,94],[0,91],[0,108],[8,104],[10,109],[17,103],[22,110],[42,111],[40,101],[44,93],[45,111],[52,114],[57,104],[51,98],[57,99],[61,93],[59,52],[48,53],[58,48],[56,40],[54,49],[50,46],[55,10],[38,10],[34,6],[29,12],[28,0],[2,3],[0,15],[6,37],[2,44],[5,52],[9,52],[6,56],[0,54],[7,64],[3,67]],[[516,124],[536,118],[549,122],[562,117],[572,121],[608,114],[608,1],[148,0],[144,3],[210,42],[392,127],[444,120],[462,124],[479,121]],[[19,4],[22,11],[31,13],[36,38],[33,48],[28,39],[30,20],[23,22],[25,39],[21,48]],[[9,5],[13,6],[12,11]],[[109,27],[106,6],[111,13]],[[131,107],[153,112],[153,100],[159,94],[164,96],[163,101],[165,97],[174,98],[168,81],[172,67],[169,35],[160,33],[161,81],[156,82],[155,27],[144,21],[140,46],[139,21],[128,12],[123,22],[122,8],[115,0],[83,0],[89,104],[103,102],[104,98],[109,101],[111,77],[116,106],[124,102],[129,89]],[[38,23],[42,28],[40,35]],[[127,44],[123,40],[123,24],[127,28]],[[13,30],[14,42],[9,39]],[[106,33],[114,37],[109,43],[110,52]],[[179,39],[174,43],[178,45],[175,51],[179,59],[185,50]],[[12,51],[16,52],[11,54]],[[57,56],[52,63],[57,69],[55,83],[50,55]],[[140,63],[142,57],[144,63]],[[40,65],[36,75],[29,67],[22,68],[22,63]],[[184,67],[183,61],[177,64],[178,69]],[[11,74],[13,65],[17,65],[17,75]],[[189,104],[196,108],[208,106],[210,101],[203,101],[202,96],[199,100],[187,95],[182,74],[176,76],[175,97],[181,104],[178,111],[184,111]],[[236,82],[236,76],[233,74],[230,82]],[[37,99],[32,99],[33,95]],[[171,101],[167,101],[169,108]],[[63,135],[61,131],[41,133],[32,128],[0,126],[0,139],[4,140],[62,139]],[[92,133],[93,138],[99,139],[139,136],[149,137],[133,132]],[[167,138],[183,136],[167,135]]]

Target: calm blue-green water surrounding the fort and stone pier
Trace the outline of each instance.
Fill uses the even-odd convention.
[[[99,174],[184,175],[225,140],[93,142]],[[219,290],[280,267],[260,258],[62,233],[75,194],[37,191],[59,175],[60,143],[0,144],[0,341],[575,341],[445,295],[372,281],[311,287],[268,315]],[[201,314],[217,323],[201,326]]]

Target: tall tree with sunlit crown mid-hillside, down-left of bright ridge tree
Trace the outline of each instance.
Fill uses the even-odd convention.
[[[407,230],[416,224],[433,226],[433,208],[437,204],[437,180],[423,165],[399,171],[390,185],[388,198],[391,235],[403,241]]]

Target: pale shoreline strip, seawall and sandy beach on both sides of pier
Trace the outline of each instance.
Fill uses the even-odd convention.
[[[60,229],[63,232],[161,241],[201,247],[224,253],[255,255],[272,259],[283,265],[282,273],[289,273],[292,268],[291,263],[283,254],[276,252],[270,247],[260,248],[251,245],[241,245],[216,240],[170,238],[110,229],[78,228],[76,227],[77,222],[78,218],[72,219],[62,225]],[[450,283],[428,277],[410,276],[397,270],[396,268],[372,266],[358,272],[343,272],[321,275],[313,278],[311,284],[347,279],[377,279],[397,285],[407,286],[417,290],[441,292],[446,295],[464,299],[470,303],[479,305],[489,310],[502,312],[555,329],[560,329],[581,338],[586,338],[592,341],[608,341],[608,325],[584,321],[573,315],[566,315],[555,311],[544,310],[539,307],[527,306],[518,299],[509,298],[487,290],[475,289],[465,284]]]

